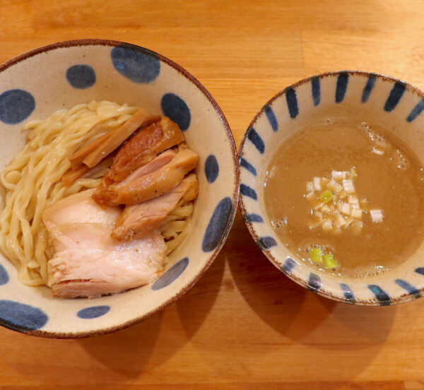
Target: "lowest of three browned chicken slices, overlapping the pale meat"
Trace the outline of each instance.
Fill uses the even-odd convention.
[[[199,182],[196,175],[184,177],[174,189],[155,199],[126,206],[112,231],[112,237],[128,240],[143,237],[162,225],[169,213],[177,207],[179,201],[192,201],[199,194]]]

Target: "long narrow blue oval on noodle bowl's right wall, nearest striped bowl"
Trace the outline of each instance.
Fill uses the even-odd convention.
[[[228,226],[231,211],[232,200],[229,197],[222,199],[216,206],[201,243],[201,249],[204,252],[211,252],[220,244]]]

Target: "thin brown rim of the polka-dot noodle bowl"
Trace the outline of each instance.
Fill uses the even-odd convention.
[[[187,285],[184,286],[181,290],[179,290],[175,295],[172,295],[168,300],[165,300],[162,305],[155,307],[155,309],[152,309],[150,312],[147,312],[146,314],[143,314],[140,317],[136,317],[134,319],[131,319],[129,321],[124,322],[123,324],[118,324],[114,326],[105,327],[102,329],[97,329],[93,331],[82,331],[82,332],[54,332],[54,331],[25,331],[16,329],[13,327],[10,327],[8,329],[11,329],[13,331],[18,331],[20,333],[25,333],[31,336],[38,336],[43,338],[86,338],[91,336],[100,336],[107,333],[112,333],[114,331],[119,331],[121,329],[125,329],[129,326],[132,326],[134,324],[137,324],[148,317],[151,317],[153,314],[157,312],[161,312],[165,307],[171,305],[173,302],[178,300],[182,295],[187,293],[190,288],[192,288],[199,278],[206,272],[206,270],[211,266],[213,261],[216,259],[216,256],[218,256],[218,253],[220,252],[220,249],[222,249],[223,244],[228,238],[228,235],[230,233],[230,230],[232,228],[232,224],[234,223],[235,213],[237,211],[237,205],[239,200],[239,189],[240,189],[240,175],[238,170],[238,157],[237,157],[237,148],[235,146],[235,140],[232,136],[232,132],[230,129],[230,125],[228,124],[227,119],[225,118],[225,114],[223,113],[223,110],[221,110],[220,106],[218,105],[218,102],[216,102],[215,98],[211,95],[211,93],[204,87],[204,85],[195,78],[189,71],[184,69],[182,66],[177,64],[175,61],[172,61],[171,59],[168,59],[167,57],[163,56],[162,54],[159,54],[158,52],[155,52],[151,49],[147,49],[146,47],[141,47],[139,45],[134,45],[129,42],[119,41],[119,40],[102,40],[102,39],[81,39],[81,40],[66,40],[61,42],[55,42],[49,45],[45,45],[42,47],[37,47],[36,49],[30,50],[29,52],[25,52],[23,54],[18,55],[17,57],[13,57],[12,59],[9,59],[8,61],[4,62],[4,64],[0,65],[0,72],[5,71],[9,67],[18,64],[20,61],[24,61],[25,59],[29,59],[30,57],[34,57],[38,54],[42,54],[45,52],[50,52],[55,49],[62,49],[62,48],[68,48],[68,47],[78,47],[78,46],[109,46],[109,47],[116,47],[116,46],[123,46],[128,47],[136,50],[142,50],[143,52],[146,52],[150,55],[153,55],[157,57],[160,61],[163,61],[165,64],[171,66],[173,69],[178,71],[183,77],[187,78],[188,81],[193,83],[200,91],[204,94],[206,99],[211,103],[213,109],[215,110],[216,114],[218,114],[218,117],[220,119],[220,122],[223,124],[223,127],[225,129],[225,133],[227,135],[228,141],[230,142],[230,148],[232,153],[232,165],[234,169],[234,175],[235,175],[235,189],[232,192],[232,206],[231,211],[228,216],[228,221],[225,225],[225,228],[223,230],[223,234],[220,237],[220,240],[218,242],[218,245],[216,249],[213,250],[213,253],[208,256],[207,261],[205,262],[203,268],[199,271],[199,273],[196,273],[196,276],[192,280],[187,283]]]

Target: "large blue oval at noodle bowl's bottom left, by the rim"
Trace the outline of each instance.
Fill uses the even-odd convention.
[[[0,324],[14,331],[36,331],[48,321],[47,314],[37,307],[0,300]]]

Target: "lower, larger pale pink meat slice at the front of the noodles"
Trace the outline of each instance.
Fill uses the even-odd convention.
[[[52,230],[55,254],[48,270],[54,297],[100,297],[158,278],[166,251],[159,232],[131,241],[118,241],[110,233],[109,226],[96,223]]]

